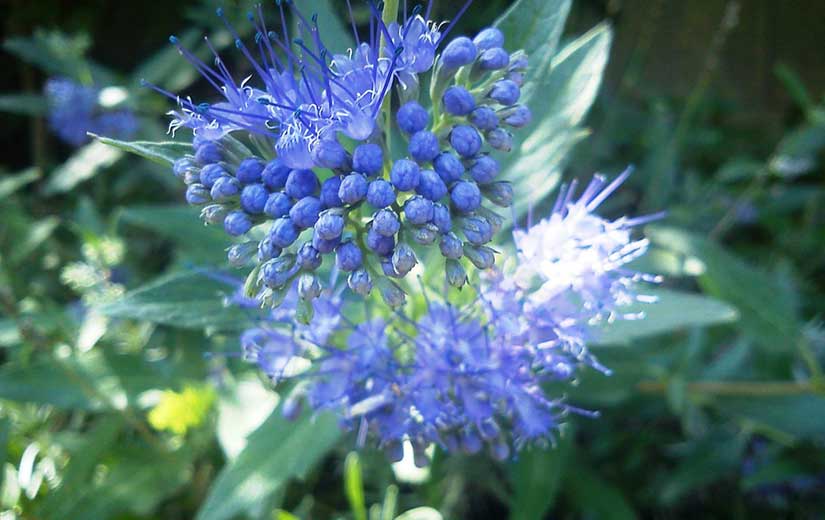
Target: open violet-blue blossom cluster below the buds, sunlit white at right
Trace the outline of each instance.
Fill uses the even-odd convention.
[[[500,459],[544,445],[563,415],[590,412],[548,397],[543,385],[569,382],[583,366],[608,373],[585,346],[593,325],[637,318],[619,307],[650,301],[634,285],[656,279],[624,266],[647,248],[630,228],[658,215],[608,221],[593,213],[627,174],[610,184],[597,176],[575,201],[575,186],[562,189],[547,219],[516,232],[516,265],[485,276],[480,306],[427,300],[415,320],[397,313],[348,325],[321,297],[310,326],[253,329],[244,351],[274,381],[300,381],[286,413],[304,402],[332,409],[391,458],[407,440],[419,462],[433,443]],[[330,341],[337,335],[344,348]]]

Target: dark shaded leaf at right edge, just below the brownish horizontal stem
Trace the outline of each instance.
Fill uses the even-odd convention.
[[[814,438],[825,432],[825,397],[821,395],[717,396],[712,406],[744,421],[751,428],[797,438]]]

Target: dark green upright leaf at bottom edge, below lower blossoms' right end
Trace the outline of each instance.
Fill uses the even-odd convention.
[[[550,511],[565,478],[571,443],[572,431],[565,431],[555,446],[519,454],[510,467],[510,520],[541,520]]]

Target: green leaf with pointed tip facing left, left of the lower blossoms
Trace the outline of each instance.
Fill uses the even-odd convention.
[[[224,299],[235,290],[231,277],[217,271],[178,272],[126,293],[97,310],[113,318],[172,327],[238,330],[250,324],[251,316],[248,311],[225,305]]]

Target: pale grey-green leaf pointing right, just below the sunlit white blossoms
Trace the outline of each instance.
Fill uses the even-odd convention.
[[[636,303],[621,312],[643,312],[639,320],[616,320],[601,326],[594,341],[598,345],[629,345],[639,338],[655,336],[688,327],[707,327],[737,319],[730,305],[699,294],[668,289],[641,288],[645,295],[656,297],[655,303]]]

